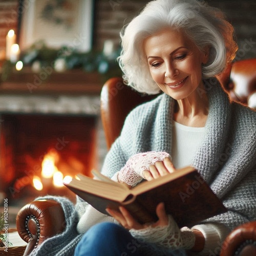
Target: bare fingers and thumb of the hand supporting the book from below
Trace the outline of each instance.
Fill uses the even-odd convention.
[[[146,224],[140,224],[137,222],[130,214],[129,211],[127,211],[124,207],[120,206],[119,211],[106,208],[106,211],[114,217],[124,228],[126,229],[143,229],[148,226],[151,227],[157,227],[157,226],[166,226],[168,225],[168,217],[166,215],[164,204],[159,203],[156,207],[156,214],[158,217],[158,221],[155,223],[146,223]]]

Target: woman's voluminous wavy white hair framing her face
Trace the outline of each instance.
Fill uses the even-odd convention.
[[[152,1],[120,33],[122,51],[118,61],[123,79],[138,92],[160,91],[151,77],[143,41],[166,27],[183,31],[200,51],[209,49],[208,62],[202,65],[203,79],[220,74],[236,55],[234,29],[219,9],[197,0]]]

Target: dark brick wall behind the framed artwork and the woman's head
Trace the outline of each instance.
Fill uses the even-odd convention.
[[[101,50],[105,39],[119,44],[119,32],[146,0],[95,0],[94,49]],[[226,14],[237,32],[239,51],[237,59],[256,57],[256,3],[254,0],[208,0],[211,6]],[[0,52],[5,48],[5,36],[10,29],[17,30],[18,0],[0,0]]]

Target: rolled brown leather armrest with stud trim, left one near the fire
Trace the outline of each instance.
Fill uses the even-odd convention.
[[[25,205],[16,217],[19,236],[28,243],[28,255],[47,238],[60,233],[66,226],[64,212],[54,200],[38,200]]]

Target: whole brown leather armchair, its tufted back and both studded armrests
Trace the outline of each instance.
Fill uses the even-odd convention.
[[[256,91],[255,69],[256,59],[241,61],[229,65],[218,79],[228,91],[230,97],[246,103],[246,97],[240,98],[240,90],[245,84],[246,92],[250,96]],[[244,65],[248,65],[245,67]],[[254,66],[253,66],[254,65]],[[254,67],[254,68],[253,68]],[[250,72],[249,72],[250,70]],[[237,73],[238,72],[238,73]],[[249,82],[238,82],[237,74],[248,77]],[[234,92],[234,93],[232,93]],[[118,96],[117,96],[118,95]],[[126,115],[139,103],[150,100],[155,96],[143,96],[124,86],[121,78],[112,78],[104,84],[101,91],[101,119],[108,148],[118,137]],[[53,200],[34,201],[25,205],[16,217],[17,230],[20,237],[28,242],[24,255],[28,255],[35,246],[40,245],[45,239],[54,236],[65,228],[65,218],[61,206]],[[220,253],[221,251],[221,253]],[[256,222],[246,223],[233,230],[221,248],[213,255],[221,256],[256,255]]]

